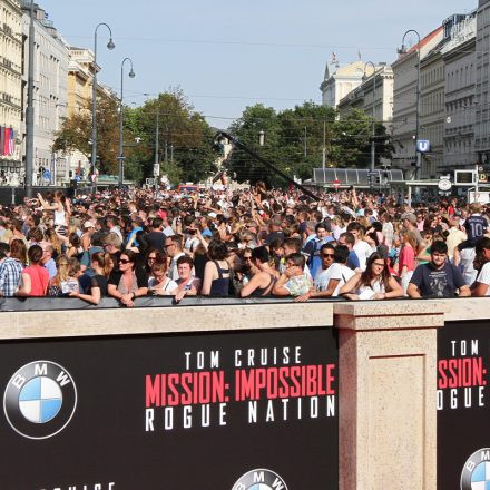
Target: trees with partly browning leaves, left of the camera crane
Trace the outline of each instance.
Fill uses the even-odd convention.
[[[124,108],[125,176],[136,182],[154,176],[158,119],[160,173],[173,184],[205,179],[216,170],[214,131],[178,89],[159,94],[137,108]],[[119,141],[118,101],[97,102],[98,166],[101,174],[117,174]],[[55,151],[91,151],[91,115],[87,110],[66,118],[56,134]]]

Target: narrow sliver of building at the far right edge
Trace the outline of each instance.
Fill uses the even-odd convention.
[[[477,12],[474,80],[474,150],[481,164],[490,164],[490,0],[480,0]]]

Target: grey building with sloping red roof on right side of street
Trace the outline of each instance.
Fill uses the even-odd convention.
[[[399,55],[393,62],[393,129],[392,143],[394,147],[392,166],[405,173],[405,178],[415,174],[415,134],[416,134],[416,88],[419,52],[421,66],[428,53],[438,46],[443,38],[442,26],[421,39],[408,52]],[[422,75],[422,74],[421,74]],[[419,128],[420,128],[419,114]]]

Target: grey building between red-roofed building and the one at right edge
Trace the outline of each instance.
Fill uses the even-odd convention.
[[[477,13],[444,29],[445,119],[442,174],[474,167]]]

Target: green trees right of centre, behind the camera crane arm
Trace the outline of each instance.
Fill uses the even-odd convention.
[[[262,104],[247,107],[229,131],[245,146],[276,167],[302,179],[311,178],[313,168],[365,168],[371,161],[372,119],[354,109],[342,119],[337,112],[312,101],[294,109],[276,112]],[[264,131],[264,145],[259,134]],[[382,124],[375,122],[376,165],[391,156],[388,135]],[[284,185],[246,153],[235,149],[226,161],[228,171],[238,180],[265,180],[268,185]]]

